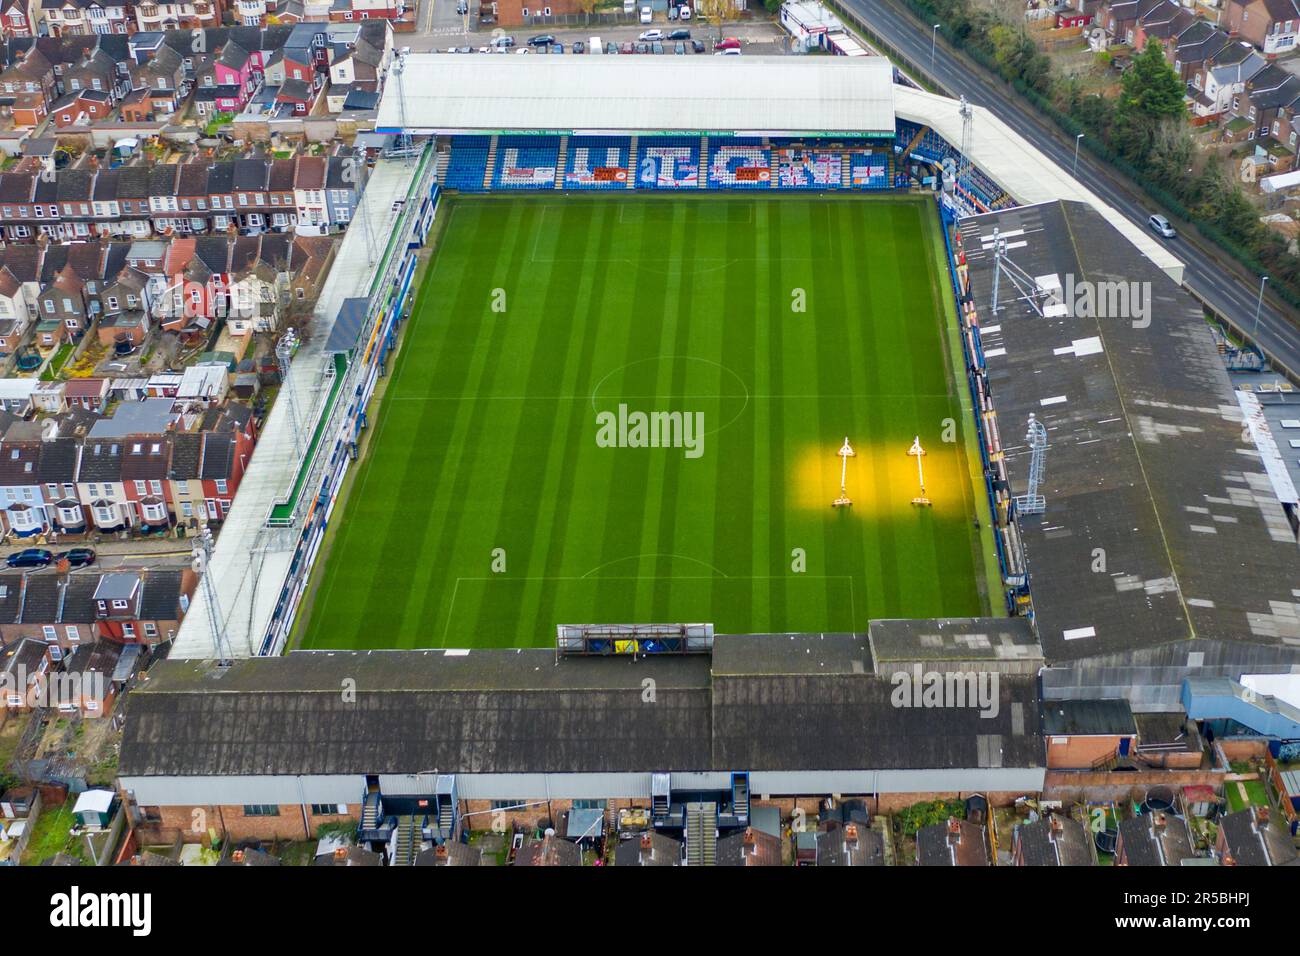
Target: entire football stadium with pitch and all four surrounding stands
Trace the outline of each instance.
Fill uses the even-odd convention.
[[[777,804],[1072,803],[1067,708],[1273,726],[1300,502],[1182,263],[880,57],[757,60],[394,68],[139,804],[398,864],[636,808],[707,865]]]

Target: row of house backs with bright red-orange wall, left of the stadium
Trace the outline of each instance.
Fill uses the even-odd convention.
[[[315,298],[333,247],[328,237],[273,233],[9,245],[0,355],[78,342],[92,328],[103,345],[131,347],[152,330],[196,341],[218,319],[234,336],[276,332],[292,302]]]

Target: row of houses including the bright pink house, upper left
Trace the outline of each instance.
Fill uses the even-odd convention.
[[[66,129],[114,111],[152,121],[191,99],[199,117],[255,100],[304,116],[330,82],[338,95],[377,92],[391,53],[386,21],[14,38],[0,44],[0,91],[18,127],[48,117]]]

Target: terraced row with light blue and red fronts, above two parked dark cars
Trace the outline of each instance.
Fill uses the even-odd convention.
[[[213,377],[196,377],[194,388],[209,388]],[[109,418],[84,410],[4,418],[0,527],[14,540],[220,523],[257,437],[247,406],[205,407],[202,397],[127,402]]]

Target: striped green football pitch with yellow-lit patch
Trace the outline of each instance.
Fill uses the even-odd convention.
[[[932,203],[490,196],[439,217],[302,646],[988,611]],[[853,503],[832,507],[846,437]]]

